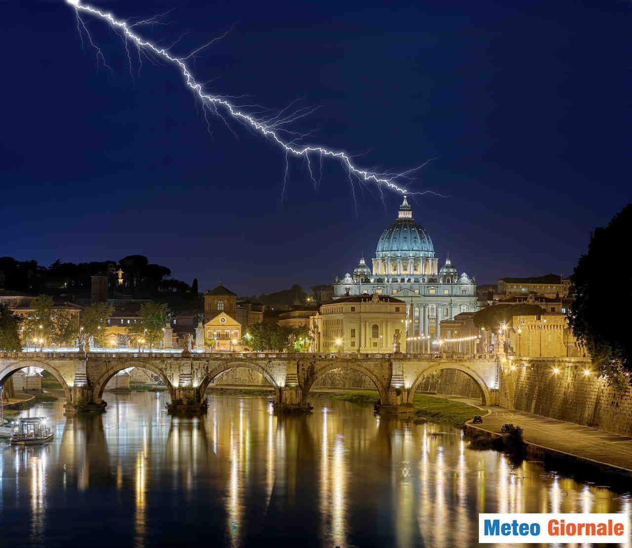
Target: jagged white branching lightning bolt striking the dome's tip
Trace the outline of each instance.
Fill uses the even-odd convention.
[[[348,173],[349,182],[351,184],[351,189],[353,191],[354,197],[355,197],[355,190],[353,187],[353,176],[355,176],[360,182],[373,183],[377,185],[380,192],[382,191],[382,187],[387,187],[388,189],[395,190],[396,192],[401,192],[402,194],[406,194],[408,192],[409,194],[435,194],[435,196],[442,196],[441,194],[438,194],[437,192],[434,192],[432,190],[410,192],[404,189],[403,187],[399,186],[401,185],[401,183],[398,182],[398,178],[408,178],[407,176],[410,175],[410,173],[413,173],[414,171],[419,170],[420,168],[425,166],[428,163],[428,161],[424,162],[422,165],[416,166],[415,168],[411,168],[410,170],[406,170],[401,173],[379,173],[378,171],[371,171],[371,170],[363,169],[354,165],[354,163],[351,161],[352,157],[349,154],[345,153],[344,151],[331,150],[324,146],[302,146],[302,145],[296,144],[296,141],[298,139],[293,139],[293,140],[283,139],[283,137],[281,136],[282,135],[281,132],[288,133],[290,135],[296,135],[296,133],[290,132],[289,130],[281,128],[281,125],[294,121],[297,118],[300,118],[301,116],[308,115],[309,113],[313,111],[313,109],[300,109],[299,111],[296,111],[293,114],[285,115],[282,117],[282,115],[284,114],[284,111],[286,111],[287,109],[286,108],[286,109],[283,109],[281,112],[279,112],[273,118],[270,118],[269,120],[257,119],[255,118],[254,115],[246,113],[243,110],[241,110],[242,107],[236,106],[235,104],[231,103],[228,100],[229,99],[228,97],[210,95],[206,93],[202,87],[202,84],[198,84],[197,80],[191,74],[185,61],[186,59],[191,58],[191,56],[194,56],[200,50],[204,49],[207,46],[210,46],[210,44],[212,44],[215,40],[211,40],[207,44],[204,44],[204,46],[198,47],[195,51],[193,51],[191,54],[187,55],[186,57],[178,58],[176,56],[173,56],[173,54],[169,53],[169,49],[167,49],[166,47],[156,46],[149,40],[143,39],[142,37],[140,37],[138,34],[135,34],[135,32],[131,30],[131,28],[140,26],[143,24],[157,23],[159,20],[159,17],[151,18],[149,20],[139,21],[137,23],[128,24],[125,20],[118,20],[111,13],[104,13],[103,11],[100,11],[100,9],[94,8],[88,4],[83,4],[80,0],[66,0],[66,3],[70,4],[71,6],[73,6],[73,8],[75,8],[76,16],[77,16],[77,28],[79,28],[79,25],[81,25],[83,29],[85,30],[85,32],[88,32],[87,27],[83,24],[83,21],[80,17],[80,13],[83,12],[83,13],[88,13],[93,16],[97,16],[104,22],[109,23],[109,25],[111,25],[111,27],[114,28],[114,30],[122,34],[122,37],[125,39],[125,42],[124,42],[125,46],[128,40],[130,42],[133,42],[133,44],[136,45],[138,49],[138,53],[139,53],[139,59],[140,59],[140,52],[143,51],[145,52],[145,55],[147,54],[147,52],[153,53],[158,58],[165,59],[166,61],[169,61],[169,63],[176,66],[181,72],[181,74],[183,75],[186,86],[189,87],[193,91],[195,96],[197,96],[198,99],[202,101],[203,107],[208,108],[212,113],[218,115],[224,121],[224,123],[226,123],[227,126],[228,126],[228,121],[226,120],[226,117],[222,115],[222,113],[224,113],[226,116],[229,116],[233,120],[240,121],[253,132],[260,134],[266,137],[267,139],[272,140],[279,147],[281,147],[281,149],[283,149],[286,156],[285,180],[284,180],[282,192],[284,192],[285,190],[285,185],[288,178],[288,173],[289,173],[288,157],[290,155],[297,156],[297,157],[301,156],[304,160],[307,160],[310,177],[312,178],[314,182],[314,186],[317,187],[317,183],[312,173],[312,163],[310,160],[310,155],[311,155],[311,156],[320,157],[320,176],[321,177],[322,177],[322,159],[324,157],[337,159],[337,161],[341,163],[343,168]],[[228,32],[226,34],[228,34]],[[90,41],[90,44],[97,51],[97,57],[100,58],[105,65],[106,63],[105,63],[105,58],[103,56],[103,53],[99,49],[99,47],[97,47],[92,42],[92,39],[90,38],[89,33],[88,33],[88,40]],[[128,59],[131,59],[129,56],[129,52],[127,53],[128,53]],[[220,112],[220,109],[222,110],[222,112]],[[207,120],[207,123],[208,123],[208,120]],[[305,135],[301,135],[300,137],[304,138]],[[283,194],[282,194],[282,197],[283,197]]]

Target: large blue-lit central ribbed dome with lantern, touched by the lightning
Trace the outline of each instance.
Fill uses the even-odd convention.
[[[377,242],[377,258],[434,257],[434,247],[428,233],[413,220],[413,211],[406,201],[399,206],[398,218]]]

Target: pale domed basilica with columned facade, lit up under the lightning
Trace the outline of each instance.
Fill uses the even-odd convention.
[[[377,242],[372,268],[365,259],[334,283],[334,299],[389,295],[406,303],[406,337],[441,337],[439,323],[478,310],[476,281],[459,275],[449,256],[439,268],[430,235],[413,220],[406,196],[398,217]]]

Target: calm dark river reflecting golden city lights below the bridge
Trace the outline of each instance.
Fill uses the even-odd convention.
[[[63,415],[44,447],[0,447],[0,544],[469,546],[480,512],[629,512],[631,498],[494,451],[455,428],[380,420],[312,398],[278,417],[268,397],[208,395],[171,418],[166,392],[106,392],[106,413]]]

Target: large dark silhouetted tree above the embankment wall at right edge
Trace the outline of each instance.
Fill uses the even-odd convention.
[[[621,261],[632,234],[632,204],[612,218],[605,228],[595,228],[588,252],[582,255],[571,276],[577,297],[571,306],[569,323],[602,373],[632,371],[632,337],[628,333],[627,313],[632,305],[629,287],[632,275]],[[619,262],[621,261],[621,262]],[[626,288],[617,294],[616,303],[607,294],[605,272],[611,281]]]

